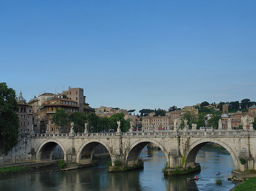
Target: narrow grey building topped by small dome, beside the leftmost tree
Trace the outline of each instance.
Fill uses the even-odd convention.
[[[20,134],[33,134],[34,131],[32,129],[32,107],[26,103],[26,100],[22,96],[22,92],[20,91],[19,97],[16,98],[19,111],[19,132]]]

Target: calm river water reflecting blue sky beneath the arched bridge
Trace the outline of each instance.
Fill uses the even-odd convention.
[[[0,180],[0,190],[229,190],[234,182],[228,181],[234,169],[229,154],[219,151],[200,150],[196,162],[201,172],[179,177],[164,177],[162,168],[166,158],[161,150],[143,148],[141,158],[144,169],[109,173],[106,164],[110,159],[101,159],[93,168],[77,169],[67,172],[34,173],[16,175]],[[216,173],[220,171],[220,175]],[[189,181],[188,177],[199,176],[199,181]],[[216,180],[222,181],[221,185]]]

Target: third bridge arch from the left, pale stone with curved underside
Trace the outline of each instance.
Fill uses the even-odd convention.
[[[168,158],[168,152],[164,148],[164,146],[159,143],[158,141],[155,141],[154,139],[139,139],[138,141],[133,142],[125,151],[125,164],[134,164],[138,163],[139,161],[139,155],[141,154],[142,149],[148,144],[148,143],[154,143],[156,146],[158,146],[166,156],[166,160],[169,163]]]

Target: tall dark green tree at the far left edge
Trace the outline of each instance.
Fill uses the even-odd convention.
[[[18,143],[18,110],[15,91],[0,83],[0,152],[6,155]]]

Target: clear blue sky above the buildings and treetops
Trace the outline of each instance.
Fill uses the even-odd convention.
[[[256,100],[256,1],[1,1],[0,82],[91,107]]]

